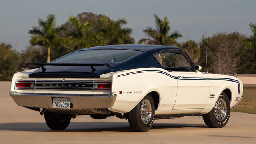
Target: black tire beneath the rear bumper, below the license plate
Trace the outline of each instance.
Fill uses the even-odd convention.
[[[46,110],[44,119],[47,126],[52,130],[64,130],[68,127],[71,117],[66,115],[54,114]]]

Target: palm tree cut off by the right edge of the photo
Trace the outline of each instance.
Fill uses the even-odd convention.
[[[250,38],[243,40],[243,44],[246,48],[256,48],[256,23],[250,23],[249,26],[253,34]]]

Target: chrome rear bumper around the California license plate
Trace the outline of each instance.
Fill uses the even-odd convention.
[[[15,93],[10,92],[18,106],[52,109],[52,98],[70,98],[72,108],[94,109],[111,108],[116,100],[116,94],[44,94],[44,93]]]

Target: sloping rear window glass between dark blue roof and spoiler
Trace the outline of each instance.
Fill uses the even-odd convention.
[[[55,62],[69,62],[69,61],[99,61],[99,62],[123,62],[141,51],[137,50],[83,50],[74,52]]]

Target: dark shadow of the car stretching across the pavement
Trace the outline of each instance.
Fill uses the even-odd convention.
[[[184,127],[205,128],[207,126],[203,124],[155,123],[151,129]],[[70,125],[65,130],[50,130],[44,122],[15,122],[0,123],[0,130],[32,132],[132,132],[128,122],[70,122]]]

